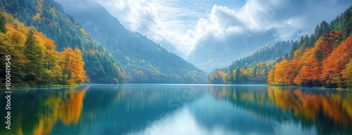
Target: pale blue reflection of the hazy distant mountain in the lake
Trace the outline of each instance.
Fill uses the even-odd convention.
[[[271,110],[276,111],[275,109],[277,108]],[[224,134],[275,134],[269,118],[260,118],[249,109],[234,106],[223,99],[205,97],[191,104],[189,110],[198,125],[208,133],[220,130]],[[274,111],[272,115],[276,113]]]

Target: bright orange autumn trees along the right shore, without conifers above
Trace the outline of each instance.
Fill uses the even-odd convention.
[[[341,31],[330,31],[320,37],[313,48],[306,48],[300,57],[277,63],[269,73],[268,83],[346,87],[349,81],[346,64],[352,58],[352,36],[341,43],[342,35]],[[346,72],[342,72],[345,68]]]

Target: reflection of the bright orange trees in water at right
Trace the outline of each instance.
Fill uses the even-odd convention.
[[[352,94],[341,92],[312,92],[268,87],[270,100],[297,120],[317,121],[321,134],[343,134],[352,127]]]

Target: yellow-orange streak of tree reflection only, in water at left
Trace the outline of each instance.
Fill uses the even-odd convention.
[[[82,90],[69,88],[62,91],[61,94],[46,99],[44,110],[38,112],[39,123],[33,134],[49,134],[58,121],[63,122],[64,125],[77,125],[82,113],[85,93],[86,88],[82,88]]]

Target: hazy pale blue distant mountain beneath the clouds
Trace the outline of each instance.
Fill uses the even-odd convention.
[[[221,39],[210,35],[196,43],[187,61],[203,71],[230,65],[234,60],[246,57],[257,48],[275,45],[276,29],[261,34],[233,34]]]

